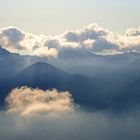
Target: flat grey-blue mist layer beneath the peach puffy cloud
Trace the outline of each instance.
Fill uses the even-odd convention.
[[[137,140],[140,115],[75,112],[55,117],[22,117],[0,113],[2,140]]]

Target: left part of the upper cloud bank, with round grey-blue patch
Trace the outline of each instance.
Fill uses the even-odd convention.
[[[10,52],[21,55],[57,57],[56,48],[45,46],[46,38],[44,35],[36,36],[25,33],[16,27],[4,28],[0,31],[0,45]]]

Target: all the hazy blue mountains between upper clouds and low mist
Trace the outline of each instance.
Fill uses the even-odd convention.
[[[129,110],[140,105],[140,54],[100,56],[71,50],[50,59],[0,48],[1,106],[10,90],[25,85],[70,91],[77,104],[89,109]]]

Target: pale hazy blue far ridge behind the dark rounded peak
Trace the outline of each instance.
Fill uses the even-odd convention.
[[[140,54],[135,52],[102,56],[81,48],[60,49],[57,58],[21,56],[10,53],[2,47],[0,52],[0,83],[37,62],[49,63],[70,74],[96,76],[119,70],[140,59]]]

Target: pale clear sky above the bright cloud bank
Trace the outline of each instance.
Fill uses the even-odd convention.
[[[139,0],[0,0],[0,28],[56,35],[91,23],[118,33],[140,25]]]

